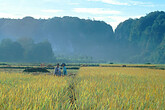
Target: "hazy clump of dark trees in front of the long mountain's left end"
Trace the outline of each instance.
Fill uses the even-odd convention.
[[[48,41],[35,43],[32,39],[3,39],[0,43],[1,62],[52,62],[55,60]]]

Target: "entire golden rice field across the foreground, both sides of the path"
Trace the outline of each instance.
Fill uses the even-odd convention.
[[[68,77],[0,71],[0,97],[2,110],[164,110],[165,70],[81,67]]]

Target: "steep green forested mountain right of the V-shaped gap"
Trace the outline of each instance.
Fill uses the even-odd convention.
[[[115,39],[119,48],[124,47],[122,60],[165,63],[165,12],[151,12],[120,23]]]

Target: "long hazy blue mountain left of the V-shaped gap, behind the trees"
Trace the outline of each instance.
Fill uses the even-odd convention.
[[[105,47],[114,40],[112,27],[103,21],[77,17],[51,19],[0,19],[0,37],[35,42],[48,40],[55,54],[105,57]],[[97,54],[96,54],[97,53]]]

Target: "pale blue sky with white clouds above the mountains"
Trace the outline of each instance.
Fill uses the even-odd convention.
[[[0,18],[73,16],[105,21],[113,29],[153,11],[165,11],[165,0],[0,0]]]

